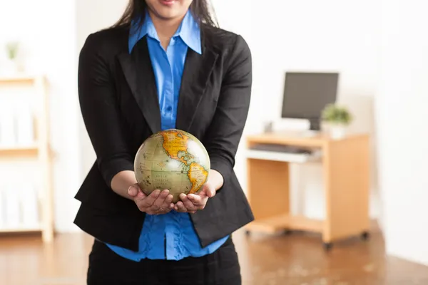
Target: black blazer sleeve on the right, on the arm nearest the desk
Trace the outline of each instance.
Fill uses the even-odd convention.
[[[205,137],[211,169],[220,172],[225,183],[233,172],[235,154],[250,108],[252,59],[242,36],[237,36],[229,61],[215,115]]]

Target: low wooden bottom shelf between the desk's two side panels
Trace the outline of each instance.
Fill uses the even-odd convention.
[[[280,214],[266,219],[255,219],[247,225],[246,229],[255,232],[265,232],[275,234],[284,229],[322,232],[323,222],[317,219],[308,219],[307,217],[290,216]]]

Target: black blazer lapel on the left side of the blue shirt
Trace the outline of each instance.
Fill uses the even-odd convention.
[[[149,128],[152,133],[157,133],[161,130],[161,112],[147,41],[142,39],[131,54],[121,53],[118,59],[131,93]]]

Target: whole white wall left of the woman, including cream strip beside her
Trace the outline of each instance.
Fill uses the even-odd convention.
[[[73,219],[79,203],[73,197],[95,160],[78,107],[78,53],[88,34],[113,24],[126,3],[127,0],[0,1],[0,45],[21,41],[27,71],[44,73],[49,81],[58,232],[78,230]],[[3,179],[0,177],[0,181]]]

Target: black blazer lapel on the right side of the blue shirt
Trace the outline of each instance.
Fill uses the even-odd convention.
[[[177,110],[177,128],[189,130],[195,118],[195,111],[203,98],[208,79],[213,71],[218,54],[203,48],[202,54],[188,49],[181,80]]]

